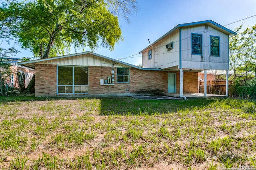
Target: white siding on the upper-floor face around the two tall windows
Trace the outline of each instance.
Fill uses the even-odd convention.
[[[192,55],[192,33],[202,34],[202,55]],[[220,37],[220,57],[210,56],[210,36]],[[228,35],[204,25],[182,29],[182,68],[228,70]]]

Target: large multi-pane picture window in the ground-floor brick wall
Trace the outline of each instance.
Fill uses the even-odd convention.
[[[88,93],[88,67],[58,66],[57,94]]]

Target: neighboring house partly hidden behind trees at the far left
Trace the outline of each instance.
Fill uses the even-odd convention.
[[[21,74],[24,81],[25,88],[28,86],[32,77],[35,74],[35,70],[33,68],[28,68],[26,66],[18,65],[17,63],[20,62],[20,59],[16,58],[6,58],[6,63],[10,64],[10,69],[12,74],[8,76],[6,79],[7,90],[10,88],[19,88],[18,86],[18,76],[17,74]]]

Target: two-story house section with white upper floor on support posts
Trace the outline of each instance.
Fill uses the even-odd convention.
[[[228,73],[229,37],[234,35],[212,20],[179,24],[140,51],[142,66],[168,71],[168,93],[182,97],[183,93],[197,92],[198,72],[215,69]],[[228,96],[228,76],[226,79]]]

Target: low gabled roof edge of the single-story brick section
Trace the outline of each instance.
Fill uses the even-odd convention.
[[[111,60],[111,61],[114,61],[114,62],[117,62],[117,63],[125,64],[125,65],[130,66],[130,67],[138,68],[140,70],[161,70],[161,69],[156,69],[156,68],[142,68],[142,67],[135,66],[135,65],[132,65],[132,64],[129,64],[129,63],[118,61],[116,59],[112,59],[110,57],[106,57],[106,56],[103,56],[103,55],[92,53],[90,51],[86,51],[86,52],[82,52],[82,53],[69,54],[69,55],[62,55],[62,56],[58,56],[58,57],[51,57],[51,58],[47,58],[47,59],[24,61],[24,62],[20,62],[18,64],[22,65],[22,66],[27,66],[27,67],[30,67],[30,68],[35,68],[35,63],[40,63],[40,62],[43,62],[43,61],[50,61],[50,60],[55,60],[55,59],[63,59],[63,58],[67,58],[67,57],[73,57],[73,56],[85,55],[85,54],[91,54],[91,55],[95,55],[95,56],[98,56],[98,57],[102,57],[104,59],[108,59],[108,60]]]

